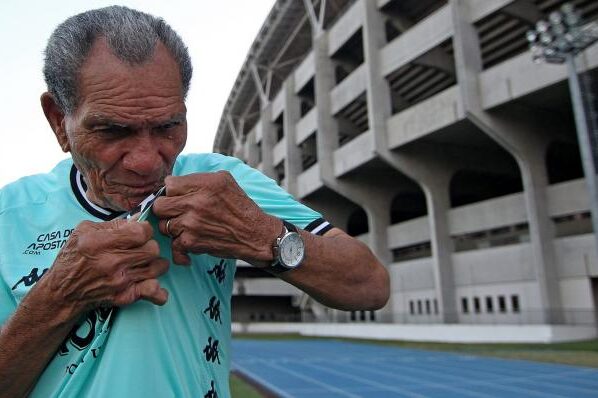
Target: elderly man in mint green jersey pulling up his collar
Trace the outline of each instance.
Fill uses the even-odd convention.
[[[233,259],[332,307],[387,301],[367,247],[272,180],[179,155],[191,62],[163,20],[69,18],[44,75],[72,159],[0,191],[0,396],[228,396]],[[162,186],[149,221],[123,217]]]

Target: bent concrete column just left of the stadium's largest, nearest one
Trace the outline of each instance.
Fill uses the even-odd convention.
[[[388,82],[380,73],[380,49],[384,46],[384,20],[374,0],[360,0],[364,7],[363,42],[368,84],[368,117],[374,134],[375,150],[396,170],[420,184],[426,195],[430,241],[434,263],[436,299],[440,320],[456,322],[456,298],[452,265],[452,240],[448,225],[450,197],[448,184],[453,167],[442,154],[424,153],[406,157],[388,148],[386,122],[392,114]]]

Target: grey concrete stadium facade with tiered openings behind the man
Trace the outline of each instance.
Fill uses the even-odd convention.
[[[595,327],[567,73],[534,64],[525,39],[563,3],[278,0],[214,150],[367,243],[392,295],[380,311],[334,311],[241,264],[234,319]],[[573,4],[598,16],[596,1]],[[579,59],[591,83],[598,47]]]

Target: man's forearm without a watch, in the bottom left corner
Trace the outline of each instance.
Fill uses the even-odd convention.
[[[27,396],[77,321],[71,311],[53,304],[42,283],[0,329],[1,398]]]

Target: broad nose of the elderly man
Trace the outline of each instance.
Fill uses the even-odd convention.
[[[160,146],[151,133],[139,133],[123,158],[123,167],[138,175],[149,176],[162,168]]]

